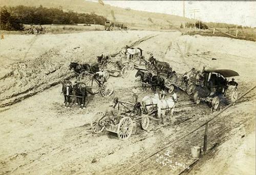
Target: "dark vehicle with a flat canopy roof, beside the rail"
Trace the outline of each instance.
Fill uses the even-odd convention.
[[[229,69],[208,69],[204,70],[200,86],[196,87],[194,101],[209,103],[212,109],[217,110],[221,100],[226,103],[235,102],[238,98],[237,83],[229,82],[227,78],[239,76],[239,73]]]

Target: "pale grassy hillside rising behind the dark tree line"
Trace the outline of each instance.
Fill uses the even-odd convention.
[[[110,5],[101,5],[99,3],[87,2],[84,0],[2,0],[1,5],[6,6],[39,6],[62,8],[63,10],[73,10],[78,13],[96,13],[106,18],[123,22],[128,27],[138,29],[168,29],[172,25],[179,27],[180,24],[190,19],[175,15],[167,15],[161,13],[142,12],[136,10],[125,10]],[[114,14],[114,15],[113,15]],[[149,19],[151,18],[151,19]]]

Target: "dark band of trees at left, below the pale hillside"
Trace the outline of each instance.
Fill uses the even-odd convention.
[[[76,13],[57,8],[39,7],[2,7],[1,30],[23,30],[23,24],[101,24],[106,18],[94,13]]]

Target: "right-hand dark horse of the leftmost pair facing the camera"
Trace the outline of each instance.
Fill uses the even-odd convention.
[[[86,90],[86,84],[83,82],[78,82],[74,85],[74,91],[76,97],[76,101],[78,105],[80,106],[80,109],[85,109],[85,103],[86,103],[86,97],[87,97],[87,90]]]

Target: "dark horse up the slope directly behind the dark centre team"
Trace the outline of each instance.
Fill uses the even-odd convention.
[[[150,57],[148,61],[156,67],[157,72],[167,73],[167,78],[172,73],[172,67],[170,67],[169,63],[158,61],[154,57]]]

